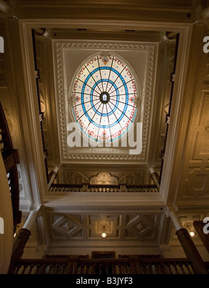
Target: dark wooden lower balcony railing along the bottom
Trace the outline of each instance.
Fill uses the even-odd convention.
[[[208,267],[208,262],[205,262]],[[194,274],[189,259],[21,259],[14,274]]]

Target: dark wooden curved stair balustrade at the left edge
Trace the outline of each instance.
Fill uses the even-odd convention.
[[[3,112],[3,108],[0,102],[0,143],[1,143],[1,154],[3,162],[6,168],[8,176],[8,184],[10,187],[10,196],[13,206],[13,225],[14,232],[16,226],[21,222],[22,211],[20,207],[20,190],[19,190],[19,179],[17,173],[17,163],[19,163],[19,156],[17,150],[13,149],[13,142],[10,137],[10,131],[6,117]]]

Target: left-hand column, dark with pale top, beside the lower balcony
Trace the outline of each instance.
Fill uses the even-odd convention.
[[[21,259],[24,253],[24,246],[31,235],[31,227],[38,216],[38,211],[40,210],[40,205],[34,205],[33,210],[29,214],[26,223],[22,229],[17,233],[15,241],[13,243],[13,253],[10,261],[10,267],[8,269],[8,274],[13,273],[14,264],[17,260]]]

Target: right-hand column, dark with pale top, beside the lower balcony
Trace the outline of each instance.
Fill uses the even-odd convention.
[[[168,216],[171,217],[173,225],[176,227],[176,235],[178,236],[178,240],[185,251],[185,255],[188,259],[192,262],[192,268],[195,274],[208,274],[206,266],[203,263],[203,259],[199,255],[192,238],[189,235],[189,232],[183,227],[181,224],[176,211],[175,207],[167,207]]]

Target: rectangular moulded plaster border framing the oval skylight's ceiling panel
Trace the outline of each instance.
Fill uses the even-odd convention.
[[[65,80],[65,69],[64,69],[64,49],[90,49],[97,51],[146,51],[148,54],[148,63],[146,67],[146,76],[144,81],[146,81],[146,87],[142,88],[142,93],[144,93],[145,102],[142,105],[142,110],[144,110],[144,120],[143,120],[143,140],[142,140],[142,152],[139,155],[131,155],[128,154],[127,149],[117,149],[115,147],[96,147],[95,148],[77,148],[77,149],[69,149],[67,145],[67,125],[70,121],[70,114],[68,111],[68,89],[67,83]],[[57,67],[56,72],[56,85],[57,85],[57,105],[59,107],[59,112],[57,113],[57,119],[59,121],[60,133],[59,133],[59,143],[61,145],[61,155],[63,161],[70,160],[100,160],[101,154],[102,159],[107,161],[145,161],[147,158],[147,147],[148,147],[148,127],[150,126],[150,107],[152,106],[152,95],[153,95],[153,77],[155,74],[155,63],[154,63],[154,55],[156,53],[156,45],[147,43],[147,45],[140,45],[139,43],[133,44],[120,44],[120,43],[111,43],[111,42],[99,42],[99,41],[66,41],[63,40],[59,42],[59,40],[54,41],[54,61]],[[70,122],[73,122],[71,120]]]

